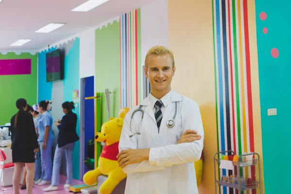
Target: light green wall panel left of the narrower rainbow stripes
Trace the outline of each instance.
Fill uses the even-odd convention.
[[[105,89],[110,94],[110,116],[120,110],[120,26],[114,21],[96,30],[96,92],[102,93],[102,124],[108,120]]]

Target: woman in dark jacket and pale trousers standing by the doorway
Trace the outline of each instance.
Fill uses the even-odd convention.
[[[65,152],[66,159],[66,175],[67,180],[64,185],[65,188],[70,188],[73,182],[73,150],[75,142],[79,140],[79,136],[76,132],[77,127],[77,114],[73,113],[75,109],[74,102],[64,102],[62,104],[63,116],[62,120],[56,122],[56,126],[60,130],[58,136],[58,145],[55,150],[52,170],[52,180],[49,187],[43,189],[43,191],[55,191],[58,190],[60,183],[60,168],[62,157]]]

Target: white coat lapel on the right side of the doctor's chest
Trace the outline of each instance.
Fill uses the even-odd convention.
[[[178,93],[173,91],[172,96],[169,100],[169,103],[168,103],[168,105],[167,105],[167,107],[162,115],[162,122],[161,122],[161,126],[160,126],[160,133],[159,133],[158,142],[160,141],[162,131],[166,130],[168,128],[167,121],[173,118],[174,114],[171,114],[171,113],[175,113],[175,102],[181,101],[181,100],[182,100],[182,97]],[[178,109],[178,107],[177,107],[177,109]]]

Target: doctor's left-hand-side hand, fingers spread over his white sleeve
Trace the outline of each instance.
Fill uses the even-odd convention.
[[[129,164],[143,162],[148,160],[149,149],[126,149],[122,150],[118,155],[118,164],[121,168]]]

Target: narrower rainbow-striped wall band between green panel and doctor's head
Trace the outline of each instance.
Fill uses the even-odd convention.
[[[138,104],[138,11],[120,16],[121,108]]]

